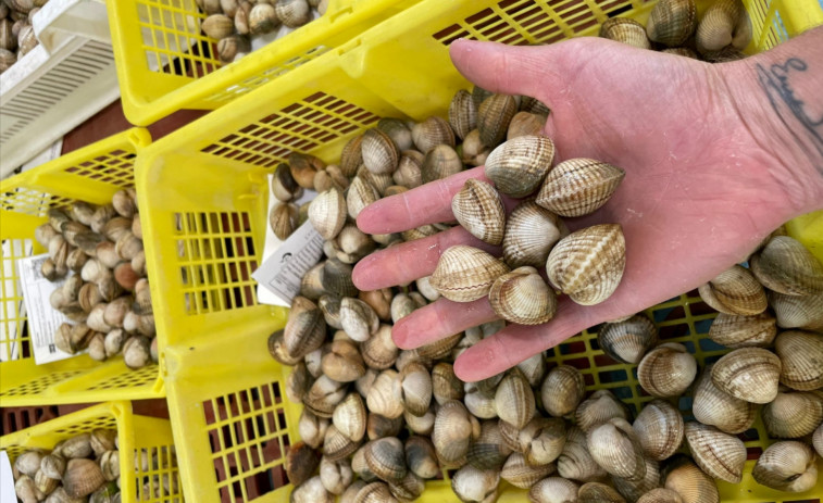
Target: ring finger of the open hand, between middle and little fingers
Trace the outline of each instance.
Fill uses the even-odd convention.
[[[398,348],[411,350],[495,319],[497,315],[487,297],[474,302],[438,299],[399,319],[391,338]]]

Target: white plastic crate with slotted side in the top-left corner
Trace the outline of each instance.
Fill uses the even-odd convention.
[[[50,0],[32,23],[40,45],[0,75],[0,178],[120,97],[103,0]]]

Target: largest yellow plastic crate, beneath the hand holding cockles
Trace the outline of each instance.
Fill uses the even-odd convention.
[[[755,25],[750,51],[823,22],[816,0],[745,3]],[[166,342],[170,414],[190,498],[272,502],[290,491],[283,486],[283,457],[298,440],[300,406],[285,399],[288,368],[265,351],[267,336],[284,325],[286,313],[259,304],[249,276],[260,263],[267,225],[265,177],[277,163],[291,150],[336,161],[345,142],[381,116],[444,115],[454,91],[469,86],[448,58],[448,43],[457,37],[550,42],[596,34],[599,23],[615,12],[645,21],[652,5],[424,0],[141,153],[140,208],[147,235],[155,237],[146,242],[146,252],[158,331]],[[687,343],[701,365],[725,352],[706,338],[712,315],[694,293],[648,313],[666,340]],[[548,359],[577,364],[589,390],[614,389],[637,408],[648,397],[640,394],[634,372],[599,362],[602,353],[593,345],[594,337],[584,332],[549,351]],[[688,403],[681,405],[688,408]],[[753,431],[747,445],[764,448],[769,439],[762,426]],[[823,477],[807,494],[787,498],[770,491],[751,480],[752,464],[741,485],[720,485],[724,501],[759,503],[823,493]],[[427,488],[424,502],[457,501],[446,481]],[[507,489],[501,501],[522,498]]]

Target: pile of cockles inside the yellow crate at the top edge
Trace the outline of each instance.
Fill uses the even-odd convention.
[[[207,37],[217,40],[217,56],[232,63],[251,52],[251,37],[278,28],[299,28],[328,8],[328,0],[197,0],[207,15],[200,25]],[[289,29],[282,29],[277,38]]]

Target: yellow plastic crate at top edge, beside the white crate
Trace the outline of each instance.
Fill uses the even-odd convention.
[[[200,33],[195,0],[110,0],[123,111],[148,126],[177,110],[216,109],[419,1],[332,0],[320,18],[225,65],[216,40]]]

